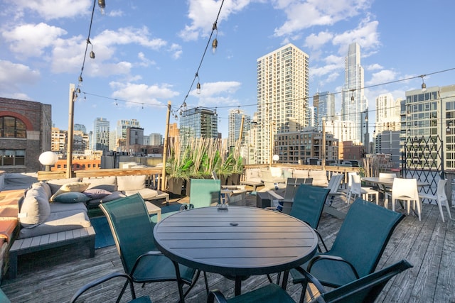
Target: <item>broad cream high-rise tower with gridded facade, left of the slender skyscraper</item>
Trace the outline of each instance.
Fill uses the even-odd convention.
[[[292,44],[257,59],[257,163],[272,161],[277,133],[309,123],[309,56]]]

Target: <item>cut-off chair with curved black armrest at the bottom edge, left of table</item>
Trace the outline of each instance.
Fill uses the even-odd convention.
[[[132,299],[129,300],[129,303],[151,303],[150,297],[142,296],[137,298],[136,297],[136,292],[134,291],[134,285],[133,285],[133,280],[129,275],[122,273],[122,272],[112,272],[110,274],[104,275],[97,280],[94,280],[92,282],[87,283],[86,285],[80,287],[79,290],[73,295],[73,297],[70,299],[70,303],[75,303],[77,302],[77,299],[79,298],[84,298],[87,297],[87,299],[95,301],[95,298],[93,297],[93,294],[90,293],[85,293],[87,290],[92,289],[93,287],[97,287],[101,285],[102,283],[105,283],[109,280],[119,280],[120,278],[125,280],[125,283],[129,285],[129,290],[131,291],[131,297]],[[119,297],[117,297],[117,303],[120,302],[120,299],[122,299],[124,290],[119,294]]]

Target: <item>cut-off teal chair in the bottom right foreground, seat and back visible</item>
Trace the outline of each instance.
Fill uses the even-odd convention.
[[[301,298],[300,302],[308,299],[305,302],[318,302],[318,303],[366,303],[374,302],[387,282],[398,275],[400,272],[412,268],[412,265],[407,260],[401,260],[398,263],[383,268],[378,272],[373,272],[370,275],[361,277],[346,285],[338,287],[334,290],[327,292],[321,285],[319,280],[305,270],[299,269],[301,275],[304,276],[306,283],[312,283],[319,291],[317,296],[310,292],[309,298]],[[213,290],[208,294],[208,303],[214,301],[218,303],[237,303],[237,302],[294,302],[294,299],[289,294],[276,284],[269,284],[252,292],[247,292],[232,299],[226,299],[219,290]]]

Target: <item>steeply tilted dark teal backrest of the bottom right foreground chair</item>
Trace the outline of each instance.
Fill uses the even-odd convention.
[[[378,272],[361,277],[358,280],[343,285],[341,287],[322,294],[324,302],[337,303],[361,303],[374,302],[387,282],[400,272],[412,268],[407,260],[401,260],[398,263],[383,268]],[[319,302],[316,300],[316,302]]]

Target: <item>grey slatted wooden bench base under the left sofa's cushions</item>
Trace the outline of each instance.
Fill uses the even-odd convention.
[[[95,229],[90,226],[73,229],[72,231],[61,231],[32,238],[16,239],[9,249],[9,278],[16,278],[18,255],[80,243],[89,246],[90,258],[95,257],[95,234]]]

